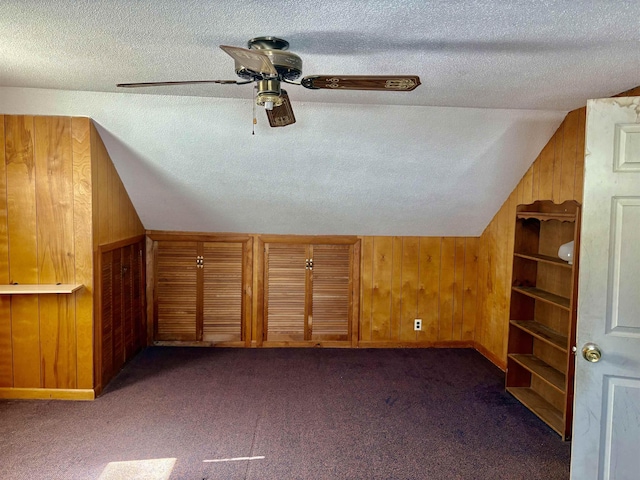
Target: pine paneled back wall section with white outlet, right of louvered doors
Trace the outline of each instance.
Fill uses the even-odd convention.
[[[478,245],[472,237],[363,237],[359,345],[472,346]]]

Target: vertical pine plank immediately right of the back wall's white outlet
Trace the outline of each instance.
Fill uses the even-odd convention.
[[[440,237],[420,238],[418,318],[422,319],[422,331],[417,339],[436,342],[440,333]]]

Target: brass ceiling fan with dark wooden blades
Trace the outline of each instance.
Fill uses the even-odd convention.
[[[282,83],[302,85],[312,90],[380,90],[409,92],[420,85],[417,75],[311,75],[300,83],[294,80],[302,74],[302,59],[288,52],[289,42],[276,37],[256,37],[248,42],[248,49],[220,45],[235,60],[237,80],[187,80],[180,82],[119,83],[118,87],[158,87],[166,85],[194,85],[222,83],[245,85],[256,83],[256,103],[264,106],[272,127],[295,123],[291,102]]]

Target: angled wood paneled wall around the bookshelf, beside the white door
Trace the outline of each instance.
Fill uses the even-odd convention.
[[[640,95],[636,87],[617,96]],[[586,107],[573,110],[480,237],[476,348],[506,367],[516,206],[536,200],[582,203]]]

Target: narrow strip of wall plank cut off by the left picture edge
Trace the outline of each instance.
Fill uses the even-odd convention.
[[[4,115],[0,115],[0,283],[9,283],[9,231],[7,225],[7,165],[4,155]],[[0,295],[0,387],[13,386],[11,297]]]

